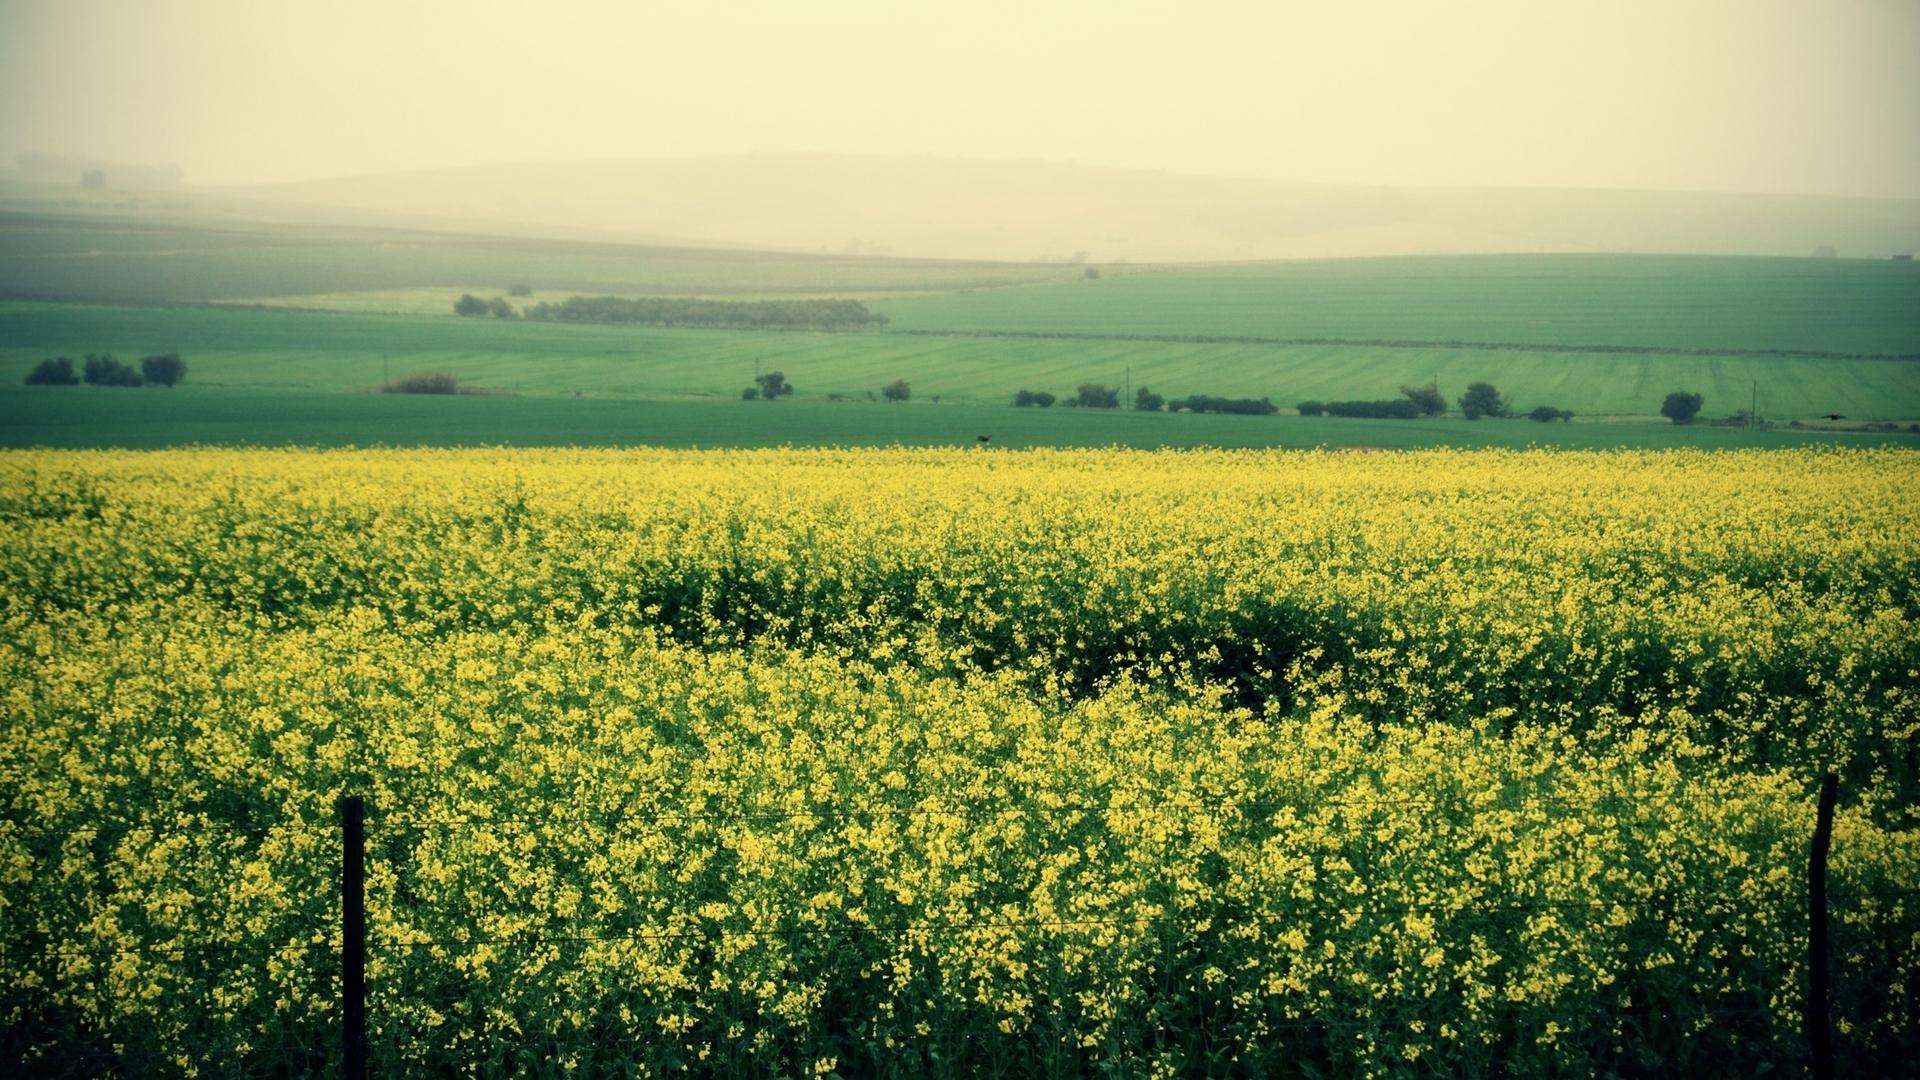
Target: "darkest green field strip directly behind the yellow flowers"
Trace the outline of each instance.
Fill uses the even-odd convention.
[[[1665,423],[1346,421],[1008,405],[0,386],[0,446],[1920,446],[1910,432]]]

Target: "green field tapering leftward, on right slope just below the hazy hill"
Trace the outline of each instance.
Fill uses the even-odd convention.
[[[1162,269],[881,306],[895,327],[1920,356],[1920,267],[1450,256]]]

